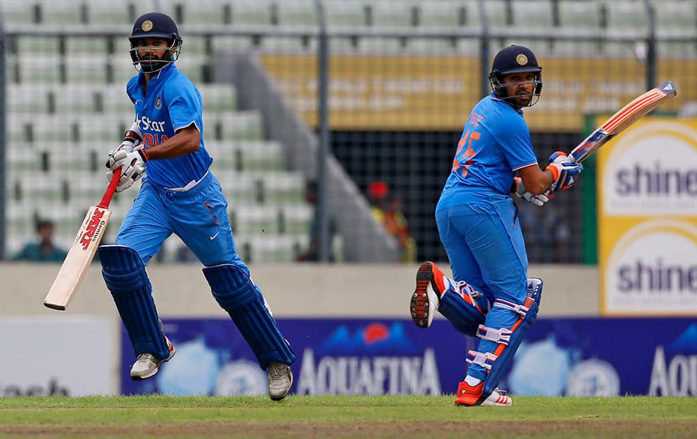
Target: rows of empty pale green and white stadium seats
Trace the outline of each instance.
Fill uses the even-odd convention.
[[[697,2],[650,5],[657,36],[673,38],[658,43],[659,55],[696,57],[697,45],[677,38],[697,36]],[[634,59],[636,41],[649,31],[645,3],[630,0],[327,0],[323,6],[328,29],[342,33],[330,41],[334,53],[479,56],[481,42],[471,36],[484,28],[480,6],[496,45],[530,45],[542,56]],[[98,201],[102,156],[134,117],[125,82],[137,72],[125,35],[138,15],[157,8],[180,24],[184,44],[176,64],[201,92],[206,145],[239,247],[254,262],[293,260],[307,243],[312,216],[304,179],[286,170],[283,145],[266,139],[265,125],[273,121],[240,105],[233,86],[213,82],[213,66],[221,51],[313,53],[314,0],[0,0],[3,29],[13,37],[4,54],[10,250],[33,234],[37,215],[55,217],[59,240],[69,244],[84,210]],[[225,34],[212,37],[215,32]],[[131,199],[116,197],[115,212],[125,213]]]

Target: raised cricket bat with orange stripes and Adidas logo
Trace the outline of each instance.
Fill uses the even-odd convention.
[[[629,125],[656,109],[666,100],[673,98],[676,94],[677,90],[675,90],[673,82],[667,81],[639,95],[629,104],[622,107],[620,111],[613,114],[599,128],[590,133],[585,140],[569,153],[569,157],[572,157],[576,162],[583,162],[586,157],[595,153],[608,140],[620,134]]]

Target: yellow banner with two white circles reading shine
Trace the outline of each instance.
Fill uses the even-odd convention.
[[[697,315],[697,120],[643,118],[597,154],[603,314]]]

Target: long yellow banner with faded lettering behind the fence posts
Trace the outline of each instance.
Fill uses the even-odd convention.
[[[316,127],[316,56],[267,54],[261,62],[292,107]],[[542,97],[525,110],[533,131],[579,132],[586,114],[613,114],[647,89],[645,66],[634,59],[540,63]],[[329,64],[333,130],[461,130],[482,98],[480,60],[473,56],[341,55]],[[670,79],[677,86],[677,97],[661,111],[697,100],[695,71],[697,61],[659,63],[659,84]]]

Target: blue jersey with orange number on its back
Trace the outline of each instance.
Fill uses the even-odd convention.
[[[516,171],[531,164],[537,157],[523,111],[491,93],[467,119],[438,208],[461,204],[461,195],[508,195]]]

